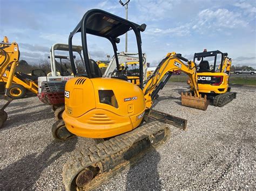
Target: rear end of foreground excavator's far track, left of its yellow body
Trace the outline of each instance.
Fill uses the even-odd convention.
[[[69,132],[68,129],[66,129],[65,123],[62,119],[53,123],[51,131],[53,138],[55,138],[55,140],[57,141],[63,141],[76,137],[76,135],[74,135],[73,133]]]

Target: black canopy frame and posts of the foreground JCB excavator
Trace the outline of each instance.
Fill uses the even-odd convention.
[[[78,23],[75,30],[70,33],[69,36],[69,53],[70,61],[74,75],[77,75],[75,68],[75,62],[73,60],[73,51],[72,51],[72,38],[73,36],[80,32],[82,38],[82,47],[83,47],[83,56],[84,56],[84,65],[86,69],[86,76],[88,78],[101,77],[93,72],[93,68],[90,62],[95,62],[91,60],[88,56],[87,49],[87,37],[86,34],[92,34],[94,36],[103,37],[110,41],[114,51],[114,57],[116,58],[117,68],[119,68],[118,54],[117,54],[117,43],[119,43],[119,36],[122,36],[127,31],[133,30],[138,47],[138,57],[139,57],[139,87],[143,89],[143,55],[142,55],[142,40],[140,37],[140,32],[145,31],[146,25],[138,25],[136,23],[130,22],[129,20],[123,19],[111,13],[105,12],[99,9],[92,9],[87,11],[83,16],[82,20]]]

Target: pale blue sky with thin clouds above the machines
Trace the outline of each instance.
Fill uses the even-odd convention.
[[[123,0],[125,1],[125,0]],[[102,1],[6,1],[0,0],[0,38],[16,41],[21,58],[38,63],[49,55],[54,43],[68,43],[69,33],[90,9],[103,9],[125,17],[118,0]],[[227,52],[233,65],[256,68],[256,1],[188,1],[188,0],[131,0],[129,20],[147,25],[142,33],[143,52],[152,65],[168,53],[177,52],[188,59],[195,52],[219,49]],[[75,44],[80,44],[76,37]],[[135,41],[129,33],[129,52]],[[91,37],[93,59],[105,59],[113,54],[107,41]],[[118,45],[124,51],[124,38]]]

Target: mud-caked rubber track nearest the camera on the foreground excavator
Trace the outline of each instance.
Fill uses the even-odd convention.
[[[139,140],[149,137],[150,135],[165,128],[166,124],[159,121],[146,123],[133,131],[111,138],[103,143],[90,146],[89,148],[80,148],[79,150],[74,151],[63,166],[62,176],[65,189],[73,189],[71,186],[73,179],[75,179],[76,175],[86,167],[92,166],[113,154],[127,150]],[[169,137],[167,137],[167,139]],[[112,176],[110,176],[110,178],[111,177]],[[107,179],[109,178],[105,178],[104,180]],[[90,187],[89,189],[93,189],[101,185],[103,182],[97,183],[97,185]]]

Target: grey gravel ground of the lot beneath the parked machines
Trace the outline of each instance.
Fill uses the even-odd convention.
[[[184,84],[167,84],[154,109],[188,119],[187,131],[170,126],[171,139],[99,189],[256,189],[254,88],[233,88],[237,99],[207,111],[183,107]],[[55,142],[49,105],[37,97],[12,102],[1,132],[0,190],[64,189],[62,166],[77,147],[74,138]]]

